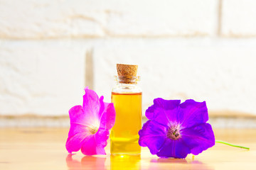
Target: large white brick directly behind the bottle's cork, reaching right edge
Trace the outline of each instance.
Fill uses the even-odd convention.
[[[255,113],[256,40],[112,40],[95,47],[95,89],[110,98],[115,63],[139,64],[144,109],[157,97]]]

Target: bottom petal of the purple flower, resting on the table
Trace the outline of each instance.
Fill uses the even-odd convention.
[[[166,138],[161,150],[156,153],[158,157],[186,158],[191,150],[182,139],[171,140]]]

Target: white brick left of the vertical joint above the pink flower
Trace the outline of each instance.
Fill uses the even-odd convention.
[[[0,114],[67,114],[82,102],[85,51],[60,40],[0,41]]]

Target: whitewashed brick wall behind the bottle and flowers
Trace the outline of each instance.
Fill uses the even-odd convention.
[[[256,128],[254,0],[0,0],[0,127],[69,127],[116,64],[154,98],[206,101],[214,128]]]

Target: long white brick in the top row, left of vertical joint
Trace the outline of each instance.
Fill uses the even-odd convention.
[[[0,3],[0,38],[215,33],[215,0],[4,0]]]

